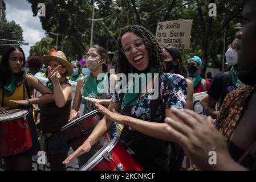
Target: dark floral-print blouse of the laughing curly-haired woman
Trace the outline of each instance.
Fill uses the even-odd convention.
[[[163,73],[159,76],[159,86],[160,89],[160,101],[162,102],[162,106],[164,109],[169,109],[170,107],[176,107],[179,109],[183,109],[186,104],[187,99],[187,85],[185,78],[181,75]],[[117,81],[116,88],[120,88],[120,82]],[[135,106],[132,106],[131,116],[139,119],[143,119],[144,121],[150,121],[151,117],[151,98],[154,93],[146,93],[141,95],[136,100]],[[112,102],[116,104],[120,104],[120,94],[116,93],[112,96]],[[122,102],[121,105],[122,113],[125,113],[125,103]],[[156,118],[157,122],[162,121],[164,119],[164,115],[161,111],[161,105],[157,107]]]

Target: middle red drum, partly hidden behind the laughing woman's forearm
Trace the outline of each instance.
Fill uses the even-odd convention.
[[[103,118],[103,114],[101,114],[99,110],[94,110],[63,126],[60,131],[62,135],[67,138],[68,144],[70,144],[75,151],[89,137],[101,118]],[[91,147],[90,152],[79,156],[79,164],[82,166],[82,164],[86,163],[111,139],[112,137],[109,133],[101,137],[99,141]]]

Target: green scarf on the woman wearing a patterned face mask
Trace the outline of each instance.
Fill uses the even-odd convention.
[[[102,73],[105,73],[104,71]],[[94,80],[94,77],[92,76],[92,73],[90,73],[87,77],[87,82],[84,88],[84,97],[90,97],[90,98],[96,98],[97,96],[100,96],[104,93],[104,85],[105,80],[107,78],[107,75],[103,77],[103,80]],[[104,84],[99,85],[103,81]],[[82,100],[83,104],[86,104],[86,100]]]

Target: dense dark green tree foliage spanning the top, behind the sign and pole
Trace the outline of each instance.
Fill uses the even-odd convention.
[[[59,45],[69,59],[80,59],[90,47],[92,0],[27,0],[34,15],[38,3],[46,5],[46,17],[40,17],[46,32],[62,34]],[[95,0],[94,44],[108,51],[117,51],[117,38],[121,27],[140,24],[156,33],[157,22],[193,19],[189,50],[182,50],[184,58],[201,56],[205,68],[221,68],[224,45],[234,39],[234,24],[243,23],[236,0]],[[216,3],[217,17],[210,17],[209,3]],[[56,41],[56,36],[50,35]]]

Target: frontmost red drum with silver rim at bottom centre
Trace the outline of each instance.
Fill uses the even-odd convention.
[[[139,163],[119,143],[109,141],[79,171],[143,171]]]

